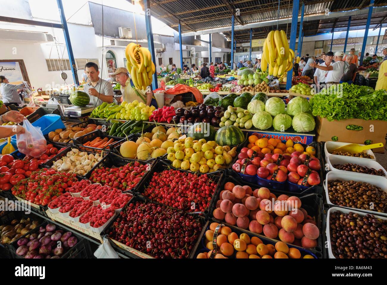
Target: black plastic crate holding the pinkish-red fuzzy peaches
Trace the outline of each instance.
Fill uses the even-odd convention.
[[[248,186],[250,186],[252,188],[253,191],[255,189],[259,188],[259,186],[253,185],[251,183],[245,183],[244,181],[235,179],[235,178],[233,178],[231,176],[226,176],[222,180],[222,182],[223,182],[222,185],[220,185],[220,187],[218,188],[218,191],[214,194],[214,202],[211,203],[211,207],[209,209],[209,217],[214,219],[214,221],[217,221],[219,223],[224,223],[225,225],[229,226],[225,221],[224,222],[218,221],[212,215],[212,212],[216,209],[216,202],[217,202],[217,200],[219,200],[220,192],[224,189],[224,184],[226,184],[227,182],[232,182],[235,185],[242,185],[242,186],[243,185],[248,185]],[[323,225],[321,224],[322,223],[322,210],[323,210],[323,197],[322,197],[322,195],[321,194],[316,194],[316,193],[300,195],[300,194],[293,193],[293,192],[289,193],[289,192],[283,192],[283,191],[278,191],[278,190],[274,190],[274,189],[269,189],[269,190],[270,190],[271,193],[276,195],[276,197],[278,197],[281,194],[286,194],[289,197],[290,196],[296,196],[296,197],[300,198],[300,200],[301,200],[301,207],[308,212],[309,216],[314,218],[314,220],[315,220],[315,222],[317,224],[317,227],[320,230],[320,236],[317,239],[317,247],[315,247],[314,250],[313,249],[309,249],[309,250],[313,251],[313,252],[322,252],[322,247],[324,246],[324,244],[322,242],[322,229],[323,229]],[[257,235],[260,235],[260,234],[257,234]],[[265,236],[262,235],[262,237],[265,237]],[[265,237],[265,238],[268,238],[268,237]],[[271,239],[271,240],[278,241],[276,239]]]

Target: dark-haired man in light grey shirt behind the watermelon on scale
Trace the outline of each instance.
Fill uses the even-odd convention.
[[[99,106],[103,102],[112,103],[113,87],[109,81],[99,78],[98,65],[94,62],[87,62],[85,71],[89,77],[89,82],[84,85],[83,91],[89,94],[89,104]]]

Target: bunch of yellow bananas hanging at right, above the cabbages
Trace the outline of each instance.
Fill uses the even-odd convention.
[[[264,42],[261,67],[269,75],[281,77],[293,68],[294,51],[289,48],[288,38],[284,30],[271,31]]]

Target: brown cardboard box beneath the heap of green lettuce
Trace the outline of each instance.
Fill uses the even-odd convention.
[[[362,126],[363,130],[347,130],[348,125]],[[386,145],[387,121],[346,119],[329,122],[326,118],[317,116],[315,130],[318,142],[332,141],[332,136],[337,136],[337,142],[364,144],[365,140],[372,140],[372,143]],[[384,154],[384,147],[372,151]]]

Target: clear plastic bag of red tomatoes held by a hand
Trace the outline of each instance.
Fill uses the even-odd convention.
[[[23,121],[24,134],[16,134],[19,152],[32,157],[39,157],[47,151],[47,142],[40,127],[34,127],[28,120]]]

